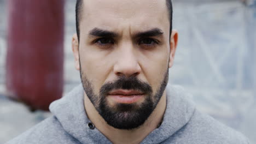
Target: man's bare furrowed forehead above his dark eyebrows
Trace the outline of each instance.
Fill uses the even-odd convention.
[[[166,0],[84,0],[81,13],[81,30],[94,27],[164,30],[170,25]]]

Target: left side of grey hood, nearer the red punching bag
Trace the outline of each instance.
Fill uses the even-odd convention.
[[[59,120],[63,129],[81,143],[111,143],[96,128],[90,129],[84,109],[84,89],[75,87],[63,98],[54,101],[49,107],[51,113]]]

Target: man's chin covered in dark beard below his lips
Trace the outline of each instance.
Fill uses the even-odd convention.
[[[105,99],[106,100],[106,99]],[[142,102],[117,103],[109,105],[108,100],[100,105],[100,115],[112,127],[131,130],[143,125],[154,110],[149,99],[142,98]]]

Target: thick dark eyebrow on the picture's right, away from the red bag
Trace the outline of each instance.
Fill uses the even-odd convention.
[[[144,37],[160,37],[164,34],[161,29],[153,28],[144,32],[137,32],[135,38],[144,38]]]

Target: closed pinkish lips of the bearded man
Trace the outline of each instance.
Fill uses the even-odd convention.
[[[144,93],[136,90],[117,89],[110,91],[108,96],[117,103],[131,104],[140,100]]]

